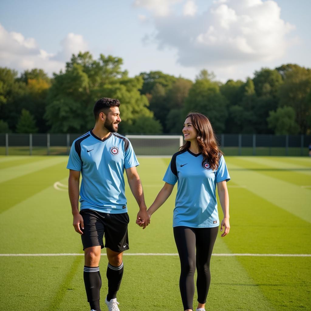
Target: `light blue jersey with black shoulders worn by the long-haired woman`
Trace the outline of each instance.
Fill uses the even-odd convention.
[[[163,180],[174,185],[177,181],[177,195],[173,214],[173,227],[209,228],[219,225],[216,183],[229,181],[224,157],[212,171],[206,162],[202,166],[201,153],[189,150],[175,153]]]

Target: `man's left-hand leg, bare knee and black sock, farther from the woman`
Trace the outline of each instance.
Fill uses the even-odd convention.
[[[91,309],[100,310],[100,288],[101,277],[99,272],[101,246],[92,246],[84,250],[84,285],[86,290],[87,301]]]

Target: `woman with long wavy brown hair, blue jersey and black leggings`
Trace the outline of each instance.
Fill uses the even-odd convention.
[[[216,185],[224,213],[222,237],[230,230],[227,181],[230,176],[214,131],[202,114],[188,114],[183,125],[185,143],[170,161],[163,180],[165,185],[148,209],[151,216],[170,196],[178,182],[173,231],[179,253],[179,288],[183,309],[193,310],[194,272],[197,268],[197,311],[205,311],[209,290],[210,259],[219,228]],[[138,219],[138,225],[143,223]],[[173,308],[174,309],[174,308]]]

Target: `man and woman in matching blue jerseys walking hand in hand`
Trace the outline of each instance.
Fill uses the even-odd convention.
[[[208,118],[190,113],[183,124],[184,144],[170,161],[151,207],[146,210],[139,165],[129,140],[117,134],[121,122],[117,99],[101,98],[95,103],[95,127],[77,138],[70,151],[69,198],[73,226],[81,234],[85,252],[84,283],[91,311],[100,309],[101,248],[106,247],[109,311],[119,311],[116,299],[123,276],[123,251],[128,246],[128,213],[123,172],[140,211],[136,223],[146,228],[151,215],[167,200],[177,185],[173,212],[173,232],[180,258],[179,288],[183,309],[193,310],[194,272],[197,269],[197,311],[205,310],[211,282],[210,259],[219,225],[221,236],[229,233],[230,176]],[[80,212],[79,181],[80,187]],[[219,221],[216,186],[224,218]],[[103,236],[105,235],[105,244]],[[168,310],[175,306],[168,306]]]

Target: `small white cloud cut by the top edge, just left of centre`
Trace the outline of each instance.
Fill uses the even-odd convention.
[[[171,7],[181,0],[135,0],[134,7],[142,7],[151,11],[155,16],[168,16]]]

